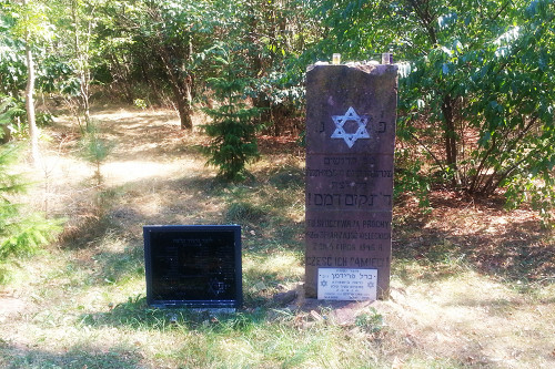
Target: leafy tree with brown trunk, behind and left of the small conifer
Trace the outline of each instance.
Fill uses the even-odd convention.
[[[103,69],[112,76],[104,80],[112,80],[129,102],[137,98],[171,101],[182,129],[192,129],[194,95],[204,88],[203,52],[223,38],[222,24],[230,20],[231,6],[219,1],[107,3],[103,12],[109,17],[99,27],[98,39]]]

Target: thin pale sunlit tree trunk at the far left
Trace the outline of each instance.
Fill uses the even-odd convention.
[[[23,6],[28,4],[28,0],[23,0]],[[29,124],[29,139],[31,140],[31,158],[32,164],[39,163],[39,130],[37,129],[37,120],[34,117],[34,63],[31,52],[29,31],[26,31],[26,59],[27,59],[27,88],[26,88],[26,109],[27,122]]]

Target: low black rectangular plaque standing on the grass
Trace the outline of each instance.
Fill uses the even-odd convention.
[[[150,306],[241,307],[241,226],[149,225],[143,236]]]

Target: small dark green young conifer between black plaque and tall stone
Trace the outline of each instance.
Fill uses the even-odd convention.
[[[208,163],[219,167],[220,177],[241,181],[245,178],[245,165],[259,156],[255,133],[261,126],[254,119],[261,110],[244,103],[243,91],[251,80],[244,75],[239,51],[216,47],[212,57],[220,75],[208,82],[220,106],[204,110],[212,119],[212,123],[204,125],[211,137],[204,153],[210,156]]]

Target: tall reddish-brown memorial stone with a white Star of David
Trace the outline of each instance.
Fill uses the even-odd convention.
[[[314,65],[306,74],[307,297],[370,296],[334,295],[329,285],[322,294],[325,269],[376,270],[376,297],[389,293],[396,89],[395,65]]]

